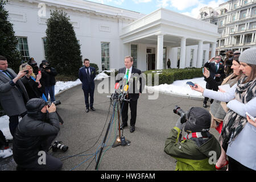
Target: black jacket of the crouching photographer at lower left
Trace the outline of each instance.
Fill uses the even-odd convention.
[[[57,135],[60,130],[59,119],[56,112],[48,114],[47,122],[42,115],[33,117],[25,115],[20,121],[14,134],[13,157],[17,164],[25,165],[38,159],[39,151],[46,151],[47,138]]]

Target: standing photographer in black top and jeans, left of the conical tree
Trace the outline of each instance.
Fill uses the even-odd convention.
[[[55,68],[52,68],[47,60],[43,60],[39,65],[40,71],[42,73],[41,84],[44,89],[44,95],[48,100],[48,96],[51,98],[51,102],[55,101],[55,76],[57,71]]]

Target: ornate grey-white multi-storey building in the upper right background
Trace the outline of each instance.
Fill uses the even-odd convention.
[[[218,26],[218,52],[256,47],[256,0],[230,0],[214,9],[204,7],[199,18]]]

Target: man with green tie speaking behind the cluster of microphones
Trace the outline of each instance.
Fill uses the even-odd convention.
[[[121,75],[124,75],[123,81],[124,84],[129,85],[128,94],[126,100],[123,101],[122,108],[122,129],[127,125],[128,121],[128,106],[130,105],[131,110],[131,119],[130,119],[130,132],[133,133],[135,131],[135,122],[137,117],[137,101],[139,96],[142,93],[142,78],[139,77],[141,75],[141,71],[137,68],[133,67],[133,57],[126,56],[125,57],[125,68],[120,68],[117,75],[117,80],[120,80]],[[139,88],[138,88],[138,79],[139,79]]]

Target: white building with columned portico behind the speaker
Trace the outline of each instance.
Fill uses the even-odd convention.
[[[40,63],[50,10],[65,11],[73,24],[81,54],[101,70],[124,67],[127,55],[141,71],[197,67],[214,56],[218,26],[158,9],[148,15],[82,0],[11,0],[5,5],[14,24],[18,49]],[[159,61],[158,61],[159,60]],[[82,64],[81,64],[82,65]]]

